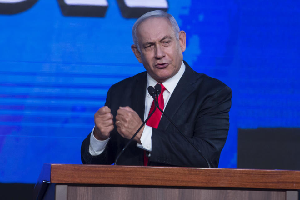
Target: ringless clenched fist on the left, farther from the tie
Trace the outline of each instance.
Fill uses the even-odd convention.
[[[103,106],[94,115],[95,128],[94,137],[98,140],[106,140],[109,138],[110,132],[113,130],[113,114],[110,108]]]

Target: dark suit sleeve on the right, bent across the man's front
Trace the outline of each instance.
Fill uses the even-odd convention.
[[[190,129],[192,134],[187,136],[214,168],[218,166],[229,130],[231,97],[229,87],[221,88],[201,103],[193,120],[180,126],[187,132]],[[205,159],[179,132],[155,128],[152,131],[152,152],[149,160],[175,166],[207,167]]]

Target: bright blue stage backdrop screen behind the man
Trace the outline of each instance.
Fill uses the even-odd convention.
[[[186,31],[187,63],[232,88],[219,167],[237,166],[238,128],[300,127],[299,1],[137,2],[0,0],[0,182],[81,163],[108,88],[144,71],[131,28],[152,8]]]

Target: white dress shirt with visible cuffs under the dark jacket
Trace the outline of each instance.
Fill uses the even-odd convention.
[[[181,67],[178,71],[178,73],[176,73],[173,77],[169,78],[168,80],[166,80],[165,82],[163,82],[163,86],[166,88],[166,90],[163,92],[163,99],[164,99],[164,107],[163,110],[166,108],[167,103],[177,85],[177,83],[179,82],[180,78],[182,77],[183,73],[185,71],[185,65],[183,64],[183,62],[181,63]],[[157,81],[155,81],[148,73],[147,73],[147,87],[146,87],[146,91],[147,88],[149,86],[155,86],[156,84],[158,84]],[[144,114],[144,119],[146,119],[149,115],[149,111],[151,108],[153,102],[153,98],[150,96],[149,93],[146,92],[146,98],[145,98],[145,114]],[[95,128],[95,127],[94,127]],[[94,128],[92,130],[92,133],[94,133]],[[152,127],[145,125],[145,128],[143,130],[142,136],[141,136],[141,143],[139,144],[137,143],[137,147],[145,149],[149,152],[151,152],[152,150],[152,140],[151,140],[151,136],[152,136]],[[91,139],[90,139],[90,146],[89,146],[89,153],[93,156],[97,156],[100,153],[102,153],[108,143],[110,138],[106,139],[106,140],[98,140],[94,137],[94,134],[91,134]]]

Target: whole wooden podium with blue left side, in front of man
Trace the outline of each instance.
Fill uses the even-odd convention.
[[[44,164],[35,199],[298,200],[300,171]]]

